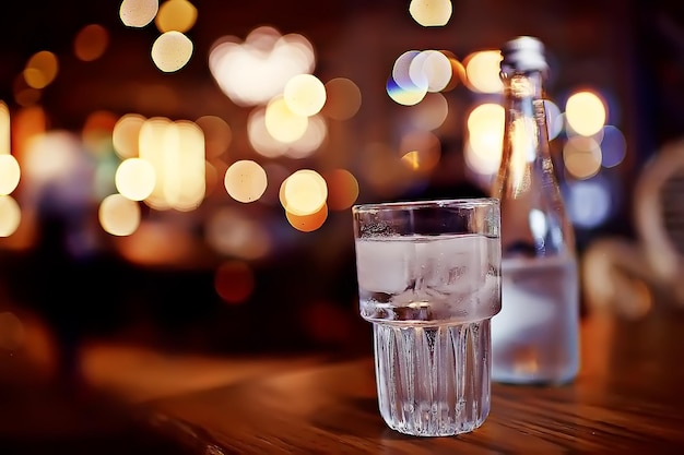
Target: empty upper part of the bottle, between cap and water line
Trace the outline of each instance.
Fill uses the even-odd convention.
[[[500,200],[504,255],[567,255],[574,232],[551,159],[543,73],[503,77],[505,127],[502,163],[492,195]]]

